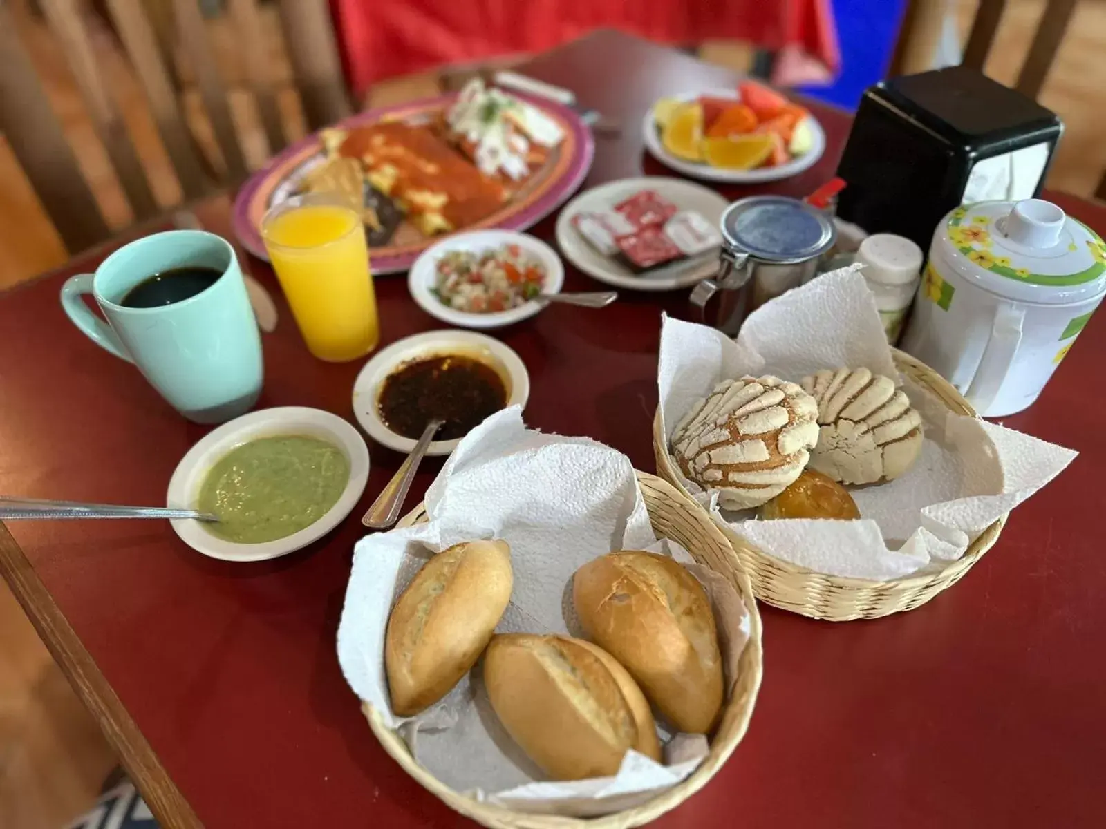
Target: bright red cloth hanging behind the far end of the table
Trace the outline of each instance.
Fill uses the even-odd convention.
[[[839,59],[830,0],[331,0],[331,8],[358,98],[387,77],[539,52],[599,28],[677,45],[744,41],[780,53],[774,80],[783,83],[827,76]]]

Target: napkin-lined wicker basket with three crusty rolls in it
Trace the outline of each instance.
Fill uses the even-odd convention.
[[[760,630],[702,510],[513,408],[462,440],[396,529],[357,545],[338,659],[380,745],[461,815],[623,829],[738,747]]]

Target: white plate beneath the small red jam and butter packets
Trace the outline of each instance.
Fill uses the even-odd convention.
[[[624,178],[599,185],[582,192],[565,204],[556,220],[556,243],[565,258],[588,276],[630,291],[671,291],[689,287],[700,280],[712,276],[718,271],[717,249],[713,253],[708,252],[697,256],[697,261],[702,258],[698,264],[693,264],[690,260],[681,260],[666,267],[636,274],[616,260],[604,256],[572,227],[572,217],[576,213],[609,210],[623,199],[641,190],[656,190],[680,210],[693,210],[700,213],[716,228],[722,218],[722,212],[730,206],[729,201],[713,190],[681,178],[649,176]]]

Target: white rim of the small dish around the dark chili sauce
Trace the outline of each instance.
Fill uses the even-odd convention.
[[[380,420],[376,400],[388,375],[411,360],[445,354],[461,354],[479,359],[497,371],[508,387],[508,406],[525,406],[530,399],[530,375],[522,359],[510,347],[487,334],[470,330],[431,330],[404,337],[373,357],[357,375],[353,385],[353,413],[368,437],[397,452],[410,452],[415,440],[396,434]],[[461,442],[436,440],[430,442],[427,454],[449,454]]]

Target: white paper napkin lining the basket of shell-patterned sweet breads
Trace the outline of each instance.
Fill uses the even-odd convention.
[[[744,374],[799,381],[822,368],[866,367],[901,381],[864,277],[852,266],[818,276],[750,314],[737,342],[665,318],[657,385],[666,438],[722,379]],[[921,457],[889,483],[858,487],[859,521],[755,521],[721,511],[684,481],[714,520],[759,549],[833,576],[887,580],[963,555],[969,543],[1055,478],[1075,452],[1001,426],[953,414],[907,379],[922,417]]]

